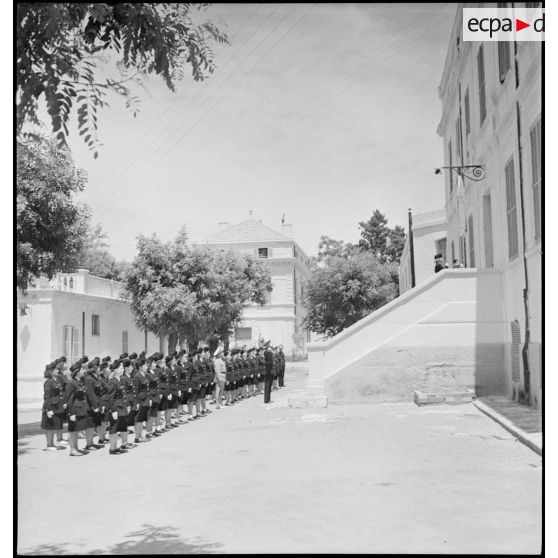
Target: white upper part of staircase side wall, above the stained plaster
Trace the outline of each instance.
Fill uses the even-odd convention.
[[[459,347],[469,348],[461,358],[473,365],[477,346],[503,343],[501,288],[501,275],[495,270],[449,269],[433,275],[339,335],[309,343],[308,391],[324,393],[334,375],[346,376],[353,365],[362,373],[363,359],[373,366],[369,357],[379,349],[389,368],[388,347],[395,367],[405,366],[395,355],[406,348],[432,361],[435,350],[444,347],[460,353]]]

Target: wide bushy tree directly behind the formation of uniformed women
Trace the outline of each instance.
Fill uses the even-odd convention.
[[[269,271],[254,258],[192,247],[184,230],[167,243],[140,236],[125,284],[139,327],[190,345],[225,339],[246,306],[271,291]]]

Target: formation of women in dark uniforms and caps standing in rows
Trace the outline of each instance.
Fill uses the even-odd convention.
[[[255,350],[255,349],[254,349]],[[227,356],[227,405],[261,392],[263,375],[254,366],[243,362],[244,351]],[[82,357],[69,368],[61,357],[45,369],[42,427],[47,438],[46,450],[63,449],[62,429],[68,423],[71,456],[83,456],[107,443],[108,426],[110,454],[118,455],[149,441],[186,421],[211,413],[206,397],[215,387],[215,373],[209,349],[198,349],[192,355],[175,352],[164,359],[161,353],[143,358],[136,353],[122,354],[111,362],[95,357]],[[163,364],[165,362],[165,364]],[[254,363],[252,363],[254,364]],[[220,406],[221,394],[215,400]],[[188,413],[184,406],[188,406]],[[196,408],[194,415],[193,409]],[[162,422],[164,420],[164,428]],[[146,436],[143,437],[143,425]],[[134,443],[128,442],[128,427],[134,428]],[[79,432],[85,432],[85,449],[78,448]],[[54,435],[58,440],[55,444]],[[97,443],[94,442],[98,435]],[[121,445],[117,447],[118,437]]]

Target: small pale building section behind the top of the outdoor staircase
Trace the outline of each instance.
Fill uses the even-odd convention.
[[[434,254],[446,254],[446,212],[430,211],[412,216],[413,260],[415,285],[434,273]],[[450,263],[451,265],[451,263]],[[405,246],[399,262],[399,294],[412,288],[410,237],[405,237]]]

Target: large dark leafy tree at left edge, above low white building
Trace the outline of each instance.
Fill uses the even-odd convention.
[[[73,199],[85,187],[85,173],[54,140],[18,141],[16,176],[17,287],[25,292],[41,274],[50,279],[77,266],[89,212]]]

